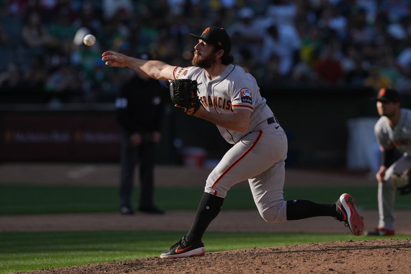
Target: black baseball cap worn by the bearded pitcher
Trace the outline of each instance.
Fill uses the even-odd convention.
[[[190,33],[191,36],[201,39],[206,43],[224,50],[224,55],[228,55],[231,50],[231,39],[227,31],[223,28],[208,27],[204,29],[201,35]]]

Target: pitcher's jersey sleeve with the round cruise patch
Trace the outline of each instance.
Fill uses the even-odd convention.
[[[234,83],[231,90],[231,101],[233,109],[247,109],[254,111],[258,87],[250,80],[241,80]]]

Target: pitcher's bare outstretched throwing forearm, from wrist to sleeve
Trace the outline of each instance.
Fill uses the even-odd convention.
[[[173,66],[156,60],[142,60],[134,57],[127,57],[125,60],[129,68],[135,69],[150,78],[157,80],[172,79]]]

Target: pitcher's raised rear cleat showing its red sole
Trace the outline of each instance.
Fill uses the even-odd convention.
[[[364,220],[358,213],[356,201],[351,194],[342,194],[335,202],[335,206],[337,206],[337,217],[335,219],[344,222],[344,225],[351,230],[352,234],[361,235],[364,231]]]

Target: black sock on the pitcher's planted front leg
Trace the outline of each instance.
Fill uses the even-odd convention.
[[[220,212],[224,198],[211,195],[204,192],[197,208],[196,217],[189,233],[185,236],[185,240],[190,242],[199,241],[202,238],[211,221],[217,217]]]

